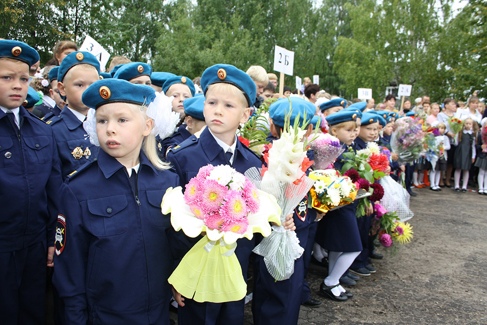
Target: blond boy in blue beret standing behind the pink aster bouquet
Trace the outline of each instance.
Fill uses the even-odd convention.
[[[262,167],[259,158],[236,136],[240,123],[246,122],[250,115],[250,106],[253,105],[256,94],[255,83],[236,67],[217,64],[205,70],[201,85],[206,98],[204,115],[207,127],[199,138],[183,141],[171,148],[167,156],[167,160],[174,165],[183,188],[207,164],[230,165],[241,173],[252,167]],[[294,229],[292,216],[288,216],[284,226]],[[177,234],[179,258],[182,258],[200,238],[189,238],[182,231]],[[255,239],[239,239],[237,244],[235,254],[246,279],[248,260],[255,246]],[[244,323],[244,299],[218,304],[198,303],[192,297],[181,297],[181,294],[173,293],[179,304],[180,325]]]

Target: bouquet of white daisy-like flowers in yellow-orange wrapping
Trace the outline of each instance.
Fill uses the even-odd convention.
[[[350,177],[340,176],[334,169],[310,172],[309,178],[315,180],[309,190],[311,205],[320,212],[326,213],[355,200],[355,184]]]

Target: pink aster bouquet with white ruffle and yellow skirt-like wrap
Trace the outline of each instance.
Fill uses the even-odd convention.
[[[227,165],[206,165],[186,185],[169,188],[161,209],[171,225],[188,237],[206,232],[183,257],[169,283],[197,302],[222,303],[244,298],[247,285],[235,249],[237,239],[254,232],[271,233],[269,222],[281,224],[281,208],[272,195],[258,190]]]

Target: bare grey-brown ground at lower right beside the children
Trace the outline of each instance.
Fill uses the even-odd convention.
[[[487,324],[487,196],[416,189],[411,199],[414,238],[396,253],[379,248],[377,272],[349,288],[354,298],[334,302],[318,295],[326,269],[311,265],[312,297],[299,325]],[[245,324],[253,324],[250,304]]]

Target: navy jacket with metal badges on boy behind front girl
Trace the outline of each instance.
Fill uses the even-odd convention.
[[[56,137],[61,173],[63,179],[98,155],[99,147],[90,142],[90,136],[83,129],[80,113],[74,113],[64,106],[61,114],[48,121]]]

